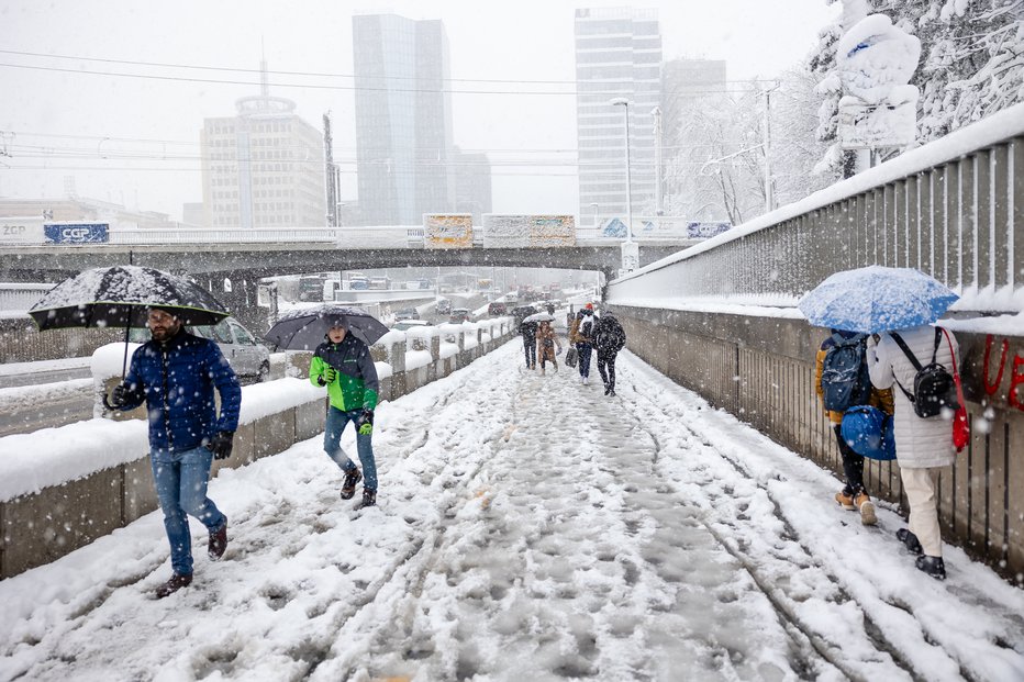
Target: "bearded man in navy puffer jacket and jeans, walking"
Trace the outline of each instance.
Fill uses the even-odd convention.
[[[210,559],[227,548],[227,517],[207,496],[207,484],[212,459],[231,456],[242,388],[216,344],[186,332],[172,309],[151,308],[146,326],[152,338],[132,355],[127,376],[104,402],[120,411],[146,403],[153,481],[174,569],[156,591],[163,599],[192,582],[187,514],[209,530]],[[214,389],[221,394],[220,418]]]

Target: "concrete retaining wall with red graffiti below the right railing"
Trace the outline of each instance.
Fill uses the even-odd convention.
[[[630,350],[843,478],[814,390],[827,329],[803,320],[616,306]],[[939,479],[943,538],[1024,583],[1024,338],[957,334],[971,443]],[[909,511],[897,462],[866,460],[872,496]]]

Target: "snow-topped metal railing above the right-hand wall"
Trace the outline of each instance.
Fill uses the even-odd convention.
[[[794,305],[833,272],[877,264],[932,275],[960,310],[1017,310],[1022,174],[1019,104],[615,280],[609,300]]]

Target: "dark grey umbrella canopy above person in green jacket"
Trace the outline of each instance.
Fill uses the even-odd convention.
[[[331,304],[286,314],[264,338],[285,350],[313,350],[333,326],[345,327],[367,346],[388,333],[388,327],[361,308]]]

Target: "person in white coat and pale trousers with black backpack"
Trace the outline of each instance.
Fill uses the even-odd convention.
[[[932,361],[935,327],[922,325],[898,329],[898,333],[922,366]],[[945,332],[935,361],[953,373],[953,360],[958,355],[956,338],[948,331]],[[867,358],[871,383],[877,388],[888,389],[898,381],[903,389],[913,393],[917,370],[890,334],[883,333],[868,339]],[[895,400],[893,423],[897,461],[910,503],[910,528],[901,528],[897,537],[908,549],[921,554],[916,561],[919,569],[933,578],[945,579],[934,476],[942,467],[948,467],[956,460],[953,415],[922,418],[916,415],[914,405],[900,387],[893,387],[892,395]]]

